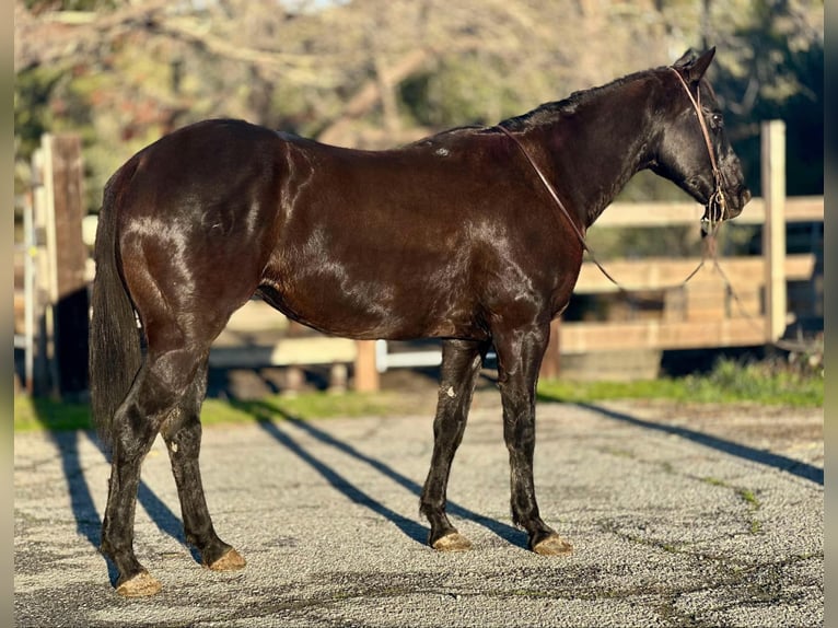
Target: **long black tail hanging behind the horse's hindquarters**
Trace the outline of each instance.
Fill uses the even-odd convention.
[[[116,236],[118,201],[135,167],[126,165],[105,185],[96,226],[96,276],[91,296],[90,397],[93,423],[110,444],[114,414],[125,400],[142,363],[140,332],[119,269]]]

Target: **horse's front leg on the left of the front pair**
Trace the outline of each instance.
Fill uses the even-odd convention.
[[[442,347],[440,398],[433,421],[433,454],[420,498],[420,511],[431,524],[428,544],[434,549],[464,550],[472,546],[449,521],[445,493],[451,463],[463,440],[485,350],[478,342],[464,340],[446,340]]]

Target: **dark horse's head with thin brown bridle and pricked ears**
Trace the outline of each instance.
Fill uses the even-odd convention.
[[[715,48],[687,53],[664,72],[666,113],[652,165],[705,206],[703,224],[737,217],[750,200],[715,94],[703,78],[714,54]]]

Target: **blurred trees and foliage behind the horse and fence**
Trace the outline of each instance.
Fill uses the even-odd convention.
[[[16,0],[14,27],[15,234],[20,243],[30,237],[24,251],[39,245],[26,208],[43,179],[36,155],[45,133],[78,139],[84,218],[98,211],[105,182],[132,153],[203,118],[388,148],[452,126],[491,125],[709,46],[717,47],[710,80],[750,188],[758,195],[763,186],[761,124],[783,120],[785,193],[820,197],[823,208],[823,1]],[[685,197],[639,175],[618,200]],[[789,229],[788,253],[813,255],[816,266],[823,220]],[[600,257],[624,259],[696,255],[697,231],[591,234]],[[759,254],[760,233],[758,224],[732,224],[725,255]],[[619,307],[613,294],[582,295],[568,316],[604,319]],[[817,305],[810,310],[817,317]]]

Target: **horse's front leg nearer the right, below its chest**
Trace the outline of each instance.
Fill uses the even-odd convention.
[[[549,340],[549,325],[497,334],[498,383],[503,403],[503,438],[509,450],[512,521],[529,535],[536,554],[569,554],[572,546],[540,517],[533,479],[535,388]]]

